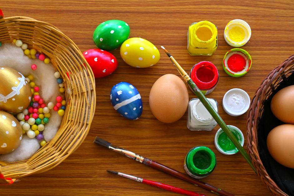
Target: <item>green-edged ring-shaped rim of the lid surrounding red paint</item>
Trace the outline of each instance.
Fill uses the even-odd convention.
[[[240,54],[241,56],[243,56],[246,60],[246,66],[244,67],[243,70],[241,71],[233,71],[229,68],[227,62],[228,62],[228,59],[233,55],[233,54]],[[250,54],[246,51],[246,50],[243,50],[241,48],[233,48],[231,50],[229,50],[225,56],[224,56],[224,59],[223,59],[223,69],[225,70],[225,72],[232,76],[232,77],[241,77],[245,74],[247,74],[247,72],[250,70],[251,68],[251,65],[252,65],[252,59],[251,59],[251,56]]]

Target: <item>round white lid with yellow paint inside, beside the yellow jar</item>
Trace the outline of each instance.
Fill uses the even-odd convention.
[[[225,28],[226,42],[233,47],[244,46],[251,37],[251,28],[244,20],[231,20]]]

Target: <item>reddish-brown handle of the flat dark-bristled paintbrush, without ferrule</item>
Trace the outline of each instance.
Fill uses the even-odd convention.
[[[169,168],[169,167],[167,167],[167,166],[165,166],[165,165],[163,165],[163,164],[161,164],[159,162],[152,161],[152,160],[150,160],[148,158],[144,158],[143,163],[145,165],[148,165],[148,166],[152,167],[152,168],[158,169],[158,170],[160,170],[162,172],[168,173],[168,174],[170,174],[172,176],[175,176],[175,177],[178,177],[178,178],[180,178],[182,180],[185,180],[185,181],[187,181],[189,183],[195,184],[195,185],[197,185],[197,186],[199,186],[201,188],[204,188],[204,189],[206,189],[208,191],[211,191],[212,193],[216,193],[216,194],[223,195],[223,196],[234,196],[231,193],[227,193],[226,191],[223,191],[223,190],[221,190],[219,188],[216,188],[216,187],[214,187],[214,186],[212,186],[210,184],[207,184],[205,182],[202,182],[202,181],[200,181],[198,179],[191,178],[190,176],[188,176],[188,175],[186,175],[184,173],[181,173],[181,172],[179,172],[177,170]]]

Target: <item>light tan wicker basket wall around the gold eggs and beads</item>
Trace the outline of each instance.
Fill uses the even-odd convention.
[[[12,43],[21,39],[49,57],[60,72],[66,89],[67,107],[55,137],[25,161],[0,162],[0,183],[6,178],[21,178],[54,168],[84,141],[94,117],[95,80],[79,48],[51,24],[27,17],[3,18],[0,9],[0,41]],[[1,173],[3,175],[1,175]]]

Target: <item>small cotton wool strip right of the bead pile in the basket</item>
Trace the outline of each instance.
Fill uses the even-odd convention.
[[[51,112],[52,113],[52,112]],[[45,129],[43,131],[44,140],[49,142],[53,139],[58,128],[60,126],[62,116],[59,116],[56,111],[54,111],[49,118],[49,122],[45,124]]]

